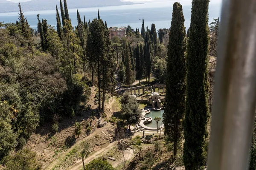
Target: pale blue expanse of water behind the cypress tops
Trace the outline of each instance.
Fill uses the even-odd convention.
[[[142,19],[145,21],[145,28],[151,28],[151,24],[156,25],[156,29],[170,28],[172,20],[172,5],[175,1],[170,0],[168,2],[157,3],[144,3],[125,6],[108,6],[99,7],[100,17],[102,20],[107,21],[108,27],[113,26],[131,26],[141,30]],[[191,0],[183,0],[180,2],[183,5],[183,14],[185,17],[185,27],[189,28],[191,17]],[[18,8],[18,6],[17,6]],[[69,14],[73,26],[77,26],[77,9],[69,9]],[[60,12],[60,9],[58,9]],[[83,15],[88,22],[88,19],[92,21],[98,16],[97,8],[78,8],[78,11],[83,20]],[[209,23],[213,18],[220,17],[221,4],[210,3],[209,5]],[[40,19],[47,20],[49,25],[56,28],[56,10],[46,11],[25,11],[24,15],[30,24],[30,27],[37,28],[37,14],[40,14]],[[4,23],[16,23],[18,20],[18,12],[0,13],[0,22]]]

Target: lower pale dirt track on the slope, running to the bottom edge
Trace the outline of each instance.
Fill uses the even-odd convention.
[[[102,156],[105,153],[107,153],[116,144],[117,144],[117,142],[112,142],[112,143],[108,144],[107,146],[103,146],[100,150],[97,150],[96,152],[94,152],[91,155],[89,155],[86,159],[84,159],[84,163],[85,164],[89,164],[90,161],[92,161],[93,159],[99,158],[100,156]],[[76,164],[73,164],[70,168],[68,168],[68,170],[79,170],[82,166],[83,166],[82,160],[78,160],[76,162]]]

